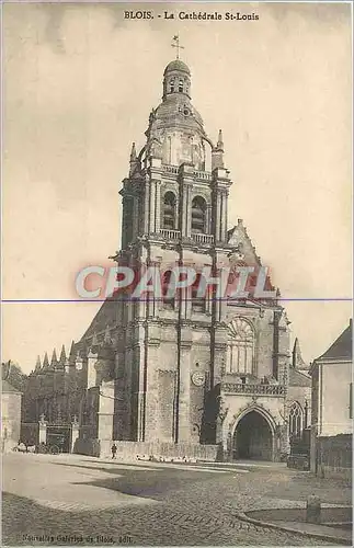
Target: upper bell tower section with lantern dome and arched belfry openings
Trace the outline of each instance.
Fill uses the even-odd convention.
[[[145,135],[139,155],[133,144],[129,176],[121,191],[122,249],[151,235],[226,242],[231,183],[222,135],[216,146],[207,137],[191,102],[190,69],[180,59],[164,70],[162,103],[152,109]]]

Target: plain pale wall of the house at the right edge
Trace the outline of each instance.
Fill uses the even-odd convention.
[[[320,413],[318,435],[331,436],[353,432],[350,418],[350,384],[352,364],[320,364]]]

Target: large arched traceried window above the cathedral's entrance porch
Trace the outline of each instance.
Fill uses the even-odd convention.
[[[228,329],[227,372],[251,375],[254,362],[253,328],[248,321],[237,318],[229,323]]]

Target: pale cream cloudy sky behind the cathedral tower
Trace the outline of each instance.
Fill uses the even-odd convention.
[[[133,9],[153,19],[124,19]],[[338,299],[352,295],[350,4],[169,3],[175,19],[158,18],[165,9],[3,5],[2,361],[25,373],[100,307],[62,300],[82,266],[119,249],[118,192],[176,33],[205,129],[216,140],[222,128],[229,228],[243,219],[282,297],[298,299],[285,307],[305,359],[349,323]],[[238,11],[259,20],[225,20]]]

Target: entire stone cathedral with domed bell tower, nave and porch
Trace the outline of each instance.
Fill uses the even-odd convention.
[[[179,58],[165,67],[162,101],[145,146],[132,147],[119,192],[113,260],[134,271],[159,266],[162,288],[175,265],[261,267],[242,220],[228,226],[222,134],[207,135],[191,83]],[[274,289],[270,278],[266,286]],[[199,297],[196,285],[173,297],[113,295],[68,356],[62,349],[59,359],[38,359],[25,421],[41,420],[48,435],[73,424],[66,450],[78,453],[106,454],[114,441],[144,454],[279,460],[310,424],[310,377],[297,340],[290,351],[278,297]]]

